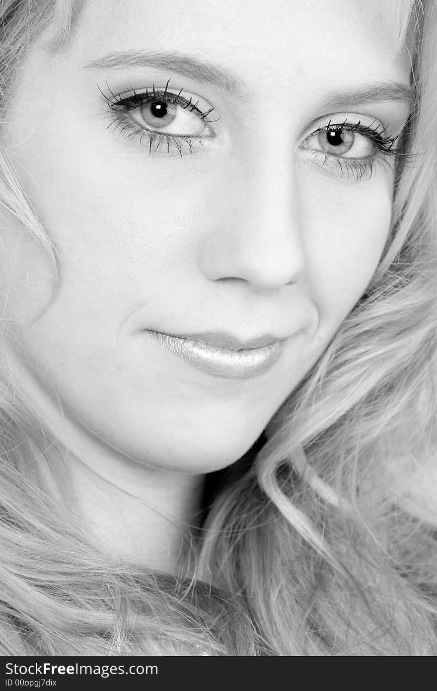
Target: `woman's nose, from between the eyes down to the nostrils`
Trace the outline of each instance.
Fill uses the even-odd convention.
[[[288,169],[287,169],[288,163]],[[253,167],[221,188],[215,222],[203,238],[200,269],[211,281],[233,278],[256,292],[304,276],[298,185],[290,162]],[[210,216],[211,218],[211,216]]]

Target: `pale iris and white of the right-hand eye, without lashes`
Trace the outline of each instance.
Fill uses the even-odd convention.
[[[345,123],[327,125],[307,137],[303,147],[342,158],[371,158],[375,153],[375,143],[371,135],[354,131],[356,127]]]

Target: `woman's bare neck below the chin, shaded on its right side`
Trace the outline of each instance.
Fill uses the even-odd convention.
[[[79,514],[91,539],[112,557],[186,573],[203,477],[102,456],[86,462],[75,457],[70,468]]]

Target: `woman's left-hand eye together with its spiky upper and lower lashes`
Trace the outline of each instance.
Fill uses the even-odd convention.
[[[114,132],[118,130],[120,136],[138,138],[139,146],[146,144],[149,155],[164,144],[164,151],[170,153],[175,147],[182,156],[193,153],[194,144],[203,146],[202,140],[213,139],[212,121],[207,120],[213,108],[206,102],[205,106],[209,107],[202,108],[200,100],[183,89],[170,91],[169,82],[164,88],[155,88],[153,84],[143,90],[131,88],[119,95],[109,90],[112,99],[99,87],[110,110],[117,113],[108,128],[115,125]]]

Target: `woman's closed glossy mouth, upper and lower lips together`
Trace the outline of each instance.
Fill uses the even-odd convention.
[[[193,367],[229,379],[251,379],[266,372],[280,358],[285,343],[285,339],[270,335],[239,341],[231,334],[218,332],[186,336],[153,330],[149,333]]]

